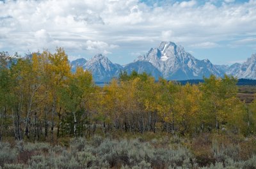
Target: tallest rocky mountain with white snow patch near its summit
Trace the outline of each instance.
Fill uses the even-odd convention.
[[[202,79],[211,74],[223,76],[208,59],[200,61],[173,42],[161,42],[159,47],[151,48],[138,60],[151,62],[168,80]]]

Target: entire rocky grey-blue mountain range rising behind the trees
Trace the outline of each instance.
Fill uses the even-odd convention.
[[[77,66],[92,71],[95,82],[109,82],[113,77],[118,77],[121,71],[131,73],[132,70],[138,73],[145,71],[156,80],[159,77],[167,80],[202,79],[212,74],[216,77],[227,74],[237,78],[256,79],[256,54],[242,64],[214,65],[208,59],[196,59],[184,47],[171,41],[161,42],[158,47],[150,48],[147,54],[138,56],[134,62],[124,66],[114,64],[102,54],[97,54],[90,60],[76,59],[71,62],[71,66],[73,72]]]

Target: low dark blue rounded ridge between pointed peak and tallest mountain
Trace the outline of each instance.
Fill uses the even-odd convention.
[[[124,70],[127,71],[128,74],[131,74],[133,70],[137,71],[138,73],[147,72],[156,80],[158,80],[159,77],[163,77],[161,71],[157,70],[157,68],[148,61],[131,62],[124,66]]]

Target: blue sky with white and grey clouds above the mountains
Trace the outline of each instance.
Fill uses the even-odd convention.
[[[256,0],[0,0],[0,50],[127,64],[161,41],[214,64],[256,52]]]

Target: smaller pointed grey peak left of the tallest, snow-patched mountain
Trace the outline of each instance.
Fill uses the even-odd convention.
[[[92,57],[84,64],[83,68],[92,72],[95,82],[109,82],[113,77],[118,77],[123,69],[121,65],[113,64],[102,54]]]

